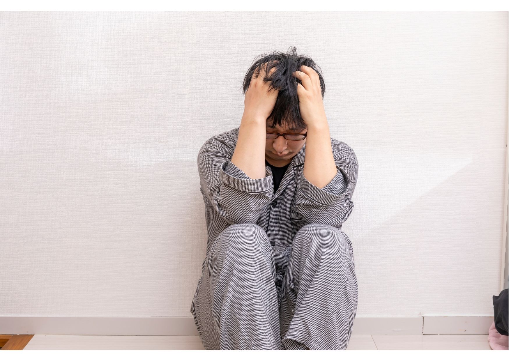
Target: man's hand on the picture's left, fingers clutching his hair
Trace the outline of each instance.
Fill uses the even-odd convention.
[[[275,61],[277,63],[277,61]],[[259,118],[266,120],[276,104],[277,94],[276,89],[270,89],[272,81],[264,81],[266,76],[266,67],[268,63],[264,63],[261,67],[254,70],[251,76],[249,89],[247,90],[244,98],[244,115],[249,117]],[[274,73],[275,67],[270,69],[269,76]],[[258,71],[260,72],[258,74]]]

